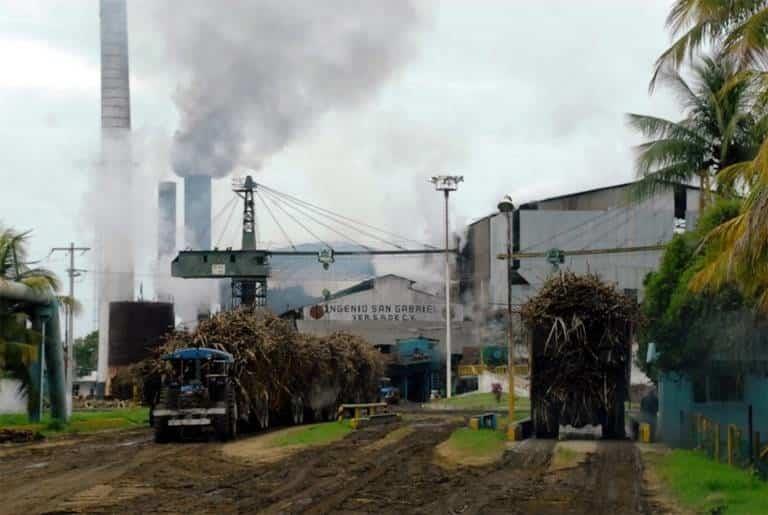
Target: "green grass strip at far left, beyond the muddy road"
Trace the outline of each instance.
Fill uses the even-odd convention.
[[[105,429],[142,427],[149,424],[149,408],[119,408],[107,410],[75,411],[66,424],[45,415],[40,423],[30,423],[26,414],[0,415],[0,428],[25,429],[55,436],[60,434],[90,433]]]

